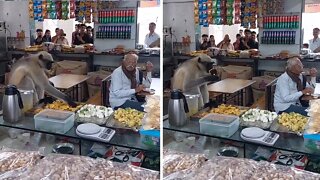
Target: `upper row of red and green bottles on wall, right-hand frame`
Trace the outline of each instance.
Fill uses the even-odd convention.
[[[268,16],[263,17],[264,29],[298,29],[299,16]]]

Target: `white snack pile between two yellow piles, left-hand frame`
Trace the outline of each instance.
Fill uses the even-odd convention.
[[[98,118],[108,118],[113,113],[112,108],[105,106],[96,106],[92,104],[86,104],[82,106],[77,114],[79,117],[98,117]]]

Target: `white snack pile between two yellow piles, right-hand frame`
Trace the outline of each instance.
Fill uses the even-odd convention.
[[[243,121],[249,122],[261,121],[263,123],[268,123],[275,120],[277,116],[278,115],[276,112],[270,112],[267,110],[260,109],[250,109],[241,116],[241,119]]]

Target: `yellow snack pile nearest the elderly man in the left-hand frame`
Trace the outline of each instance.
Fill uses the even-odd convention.
[[[130,129],[138,131],[142,125],[142,119],[145,113],[131,108],[119,108],[114,111],[113,117],[110,117],[106,123],[107,127],[116,129]]]

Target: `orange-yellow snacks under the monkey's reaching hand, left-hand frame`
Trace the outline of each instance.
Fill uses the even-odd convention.
[[[54,109],[54,110],[61,110],[61,111],[71,111],[71,112],[76,112],[78,111],[82,106],[85,105],[85,103],[77,103],[77,107],[71,107],[69,106],[66,102],[61,101],[61,100],[56,100],[53,103],[50,104],[40,104],[30,110],[28,110],[25,114],[33,116],[35,114],[38,114],[40,111],[44,109]]]

